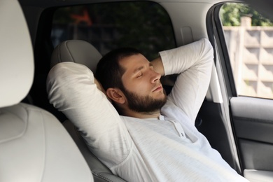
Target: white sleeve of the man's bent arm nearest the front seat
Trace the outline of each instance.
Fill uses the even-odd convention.
[[[48,74],[47,91],[50,103],[78,127],[99,160],[108,167],[123,162],[132,139],[116,109],[97,89],[90,69],[73,62],[57,64]]]

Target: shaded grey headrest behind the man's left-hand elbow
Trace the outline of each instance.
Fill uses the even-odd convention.
[[[95,72],[102,55],[93,45],[86,41],[69,40],[57,45],[52,52],[51,68],[59,62],[76,62],[87,66]]]

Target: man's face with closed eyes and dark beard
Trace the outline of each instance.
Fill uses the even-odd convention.
[[[125,69],[122,76],[128,107],[132,111],[150,113],[158,111],[166,103],[167,96],[160,83],[160,73],[144,55],[132,55],[120,60]]]

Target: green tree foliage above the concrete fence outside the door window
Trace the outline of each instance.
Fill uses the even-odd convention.
[[[272,21],[244,3],[225,3],[220,10],[223,26],[240,26],[242,16],[251,17],[252,26],[273,26]]]

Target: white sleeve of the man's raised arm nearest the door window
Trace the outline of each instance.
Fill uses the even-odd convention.
[[[182,109],[195,123],[211,78],[214,50],[206,38],[172,50],[160,52],[165,75],[179,76],[168,95],[169,101]]]

